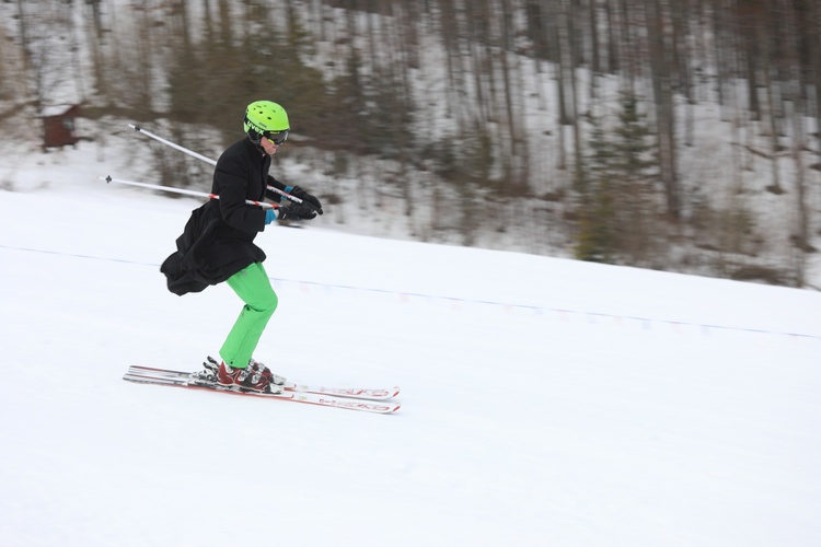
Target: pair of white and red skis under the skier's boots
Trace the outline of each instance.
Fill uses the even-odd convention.
[[[321,387],[286,382],[282,386],[285,387],[282,393],[261,393],[221,385],[208,369],[199,372],[182,372],[139,365],[129,366],[123,380],[189,389],[210,389],[234,395],[290,400],[292,403],[346,408],[365,412],[391,414],[400,409],[400,404],[392,400],[398,395],[398,387],[391,389]]]

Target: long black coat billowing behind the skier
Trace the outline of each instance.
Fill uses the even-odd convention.
[[[221,283],[254,263],[265,260],[263,249],[254,245],[256,234],[265,230],[265,210],[245,203],[262,201],[267,185],[285,185],[268,175],[270,156],[247,138],[235,142],[217,161],[211,199],[192,212],[185,231],[176,240],[177,251],[160,267],[169,290],[183,295]]]

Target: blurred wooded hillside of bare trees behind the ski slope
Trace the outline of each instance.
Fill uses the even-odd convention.
[[[0,13],[7,139],[69,101],[218,154],[244,105],[268,98],[348,220],[813,288],[819,0],[5,0]],[[189,158],[153,161],[167,184],[207,184]]]

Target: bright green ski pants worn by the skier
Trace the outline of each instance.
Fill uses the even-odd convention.
[[[227,282],[245,305],[220,349],[220,357],[226,364],[244,369],[248,365],[279,300],[262,263],[252,264],[238,271],[228,278]]]

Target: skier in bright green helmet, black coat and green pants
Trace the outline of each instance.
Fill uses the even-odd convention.
[[[192,212],[177,251],[162,264],[174,294],[200,292],[211,284],[228,282],[245,303],[226,338],[218,381],[266,393],[281,393],[285,379],[271,374],[253,352],[268,319],[277,307],[263,260],[265,253],[254,245],[256,234],[275,220],[310,220],[322,214],[320,200],[299,186],[286,186],[268,175],[271,156],[288,138],[288,114],[277,103],[256,101],[245,109],[245,138],[229,147],[217,162],[209,200]],[[273,186],[301,200],[288,201],[267,188]],[[246,199],[280,201],[278,209],[262,209]],[[273,384],[273,385],[271,385]]]

